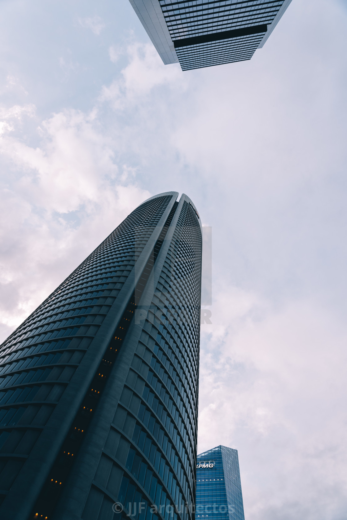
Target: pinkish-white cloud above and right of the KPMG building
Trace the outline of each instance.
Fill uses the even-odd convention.
[[[342,518],[344,323],[314,302],[275,310],[229,288],[201,330],[198,451],[239,450],[245,516]]]

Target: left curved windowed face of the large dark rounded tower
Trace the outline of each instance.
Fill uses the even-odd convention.
[[[0,504],[171,199],[140,205],[0,346]]]

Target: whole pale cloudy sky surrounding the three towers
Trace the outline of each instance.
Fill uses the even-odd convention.
[[[140,202],[213,228],[199,452],[246,520],[347,517],[343,0],[292,0],[250,61],[164,66],[128,0],[0,3],[1,339]]]

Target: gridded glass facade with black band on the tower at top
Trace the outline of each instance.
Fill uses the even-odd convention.
[[[266,26],[273,22],[284,0],[159,0],[159,3],[182,70],[190,70],[251,59]],[[247,34],[249,28],[255,34]],[[235,35],[229,37],[227,31],[235,31]],[[199,42],[199,38],[207,35],[214,35],[216,41]],[[188,38],[197,41],[190,42]]]

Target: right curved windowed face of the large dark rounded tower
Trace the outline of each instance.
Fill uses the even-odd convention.
[[[193,515],[202,241],[197,212],[186,196],[172,227],[83,520],[111,520],[130,509],[135,520]],[[110,514],[112,500],[122,504],[123,513]]]

